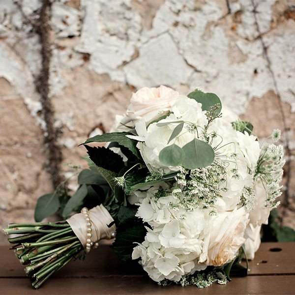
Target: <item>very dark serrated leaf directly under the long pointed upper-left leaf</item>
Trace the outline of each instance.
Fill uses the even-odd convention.
[[[109,148],[92,148],[87,145],[85,145],[85,148],[87,149],[89,158],[98,167],[116,173],[118,173],[124,167],[122,157]]]

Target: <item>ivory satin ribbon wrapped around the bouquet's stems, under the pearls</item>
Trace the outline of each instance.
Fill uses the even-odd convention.
[[[109,224],[114,222],[114,219],[103,205],[99,205],[88,210],[88,215],[92,224],[92,241],[97,242],[101,239],[114,238],[114,235],[112,236],[112,234],[116,232],[115,224],[110,228],[108,227]],[[74,214],[66,221],[85,248],[87,239],[87,222],[83,214]]]

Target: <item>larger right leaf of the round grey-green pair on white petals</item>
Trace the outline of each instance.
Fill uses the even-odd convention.
[[[213,148],[206,142],[196,138],[186,144],[182,150],[185,156],[181,164],[187,169],[207,167],[214,160]]]

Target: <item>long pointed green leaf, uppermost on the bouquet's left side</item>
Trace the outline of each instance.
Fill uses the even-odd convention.
[[[81,145],[86,145],[86,144],[94,143],[94,142],[96,143],[116,142],[121,146],[129,148],[133,154],[135,154],[139,159],[141,159],[140,152],[138,148],[136,148],[137,141],[126,137],[126,135],[133,135],[133,134],[128,132],[105,133],[102,135],[96,135],[94,137],[91,137],[84,144],[81,144]]]

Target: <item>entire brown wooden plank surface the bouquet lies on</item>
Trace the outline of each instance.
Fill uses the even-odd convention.
[[[24,267],[8,246],[0,247],[0,294],[3,295],[295,295],[295,243],[263,243],[247,277],[226,285],[160,287],[137,264],[120,262],[108,246],[91,251],[84,262],[69,263],[39,290],[32,289]]]

